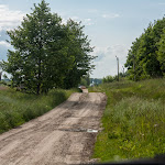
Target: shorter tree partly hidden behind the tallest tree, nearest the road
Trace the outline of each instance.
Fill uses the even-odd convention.
[[[88,75],[89,70],[94,69],[91,64],[96,56],[90,55],[94,47],[90,47],[90,41],[84,33],[81,22],[77,23],[68,20],[66,24],[68,29],[68,56],[74,57],[73,68],[66,70],[63,87],[68,89],[77,87],[81,77]]]

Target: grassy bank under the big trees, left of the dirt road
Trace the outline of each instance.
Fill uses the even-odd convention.
[[[9,88],[0,90],[0,133],[44,114],[75,91],[78,89],[53,89],[47,95],[36,96]]]

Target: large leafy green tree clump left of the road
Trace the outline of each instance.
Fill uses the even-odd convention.
[[[54,87],[68,89],[95,67],[94,47],[81,23],[70,19],[63,23],[45,0],[34,4],[32,13],[8,34],[14,51],[8,52],[8,62],[0,66],[12,75],[12,86],[37,95]]]

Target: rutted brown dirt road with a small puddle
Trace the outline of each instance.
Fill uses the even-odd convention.
[[[0,165],[87,163],[106,99],[99,92],[73,94],[46,114],[1,134]]]

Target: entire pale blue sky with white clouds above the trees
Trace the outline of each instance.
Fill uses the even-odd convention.
[[[23,16],[32,12],[34,3],[41,0],[0,0],[0,61],[7,61],[12,46],[7,30],[20,25]],[[117,58],[120,72],[127,62],[128,51],[147,29],[150,22],[165,14],[165,0],[46,0],[51,12],[57,13],[65,22],[73,19],[81,21],[85,34],[95,46],[92,55],[98,56],[94,64],[91,78],[117,75]]]

